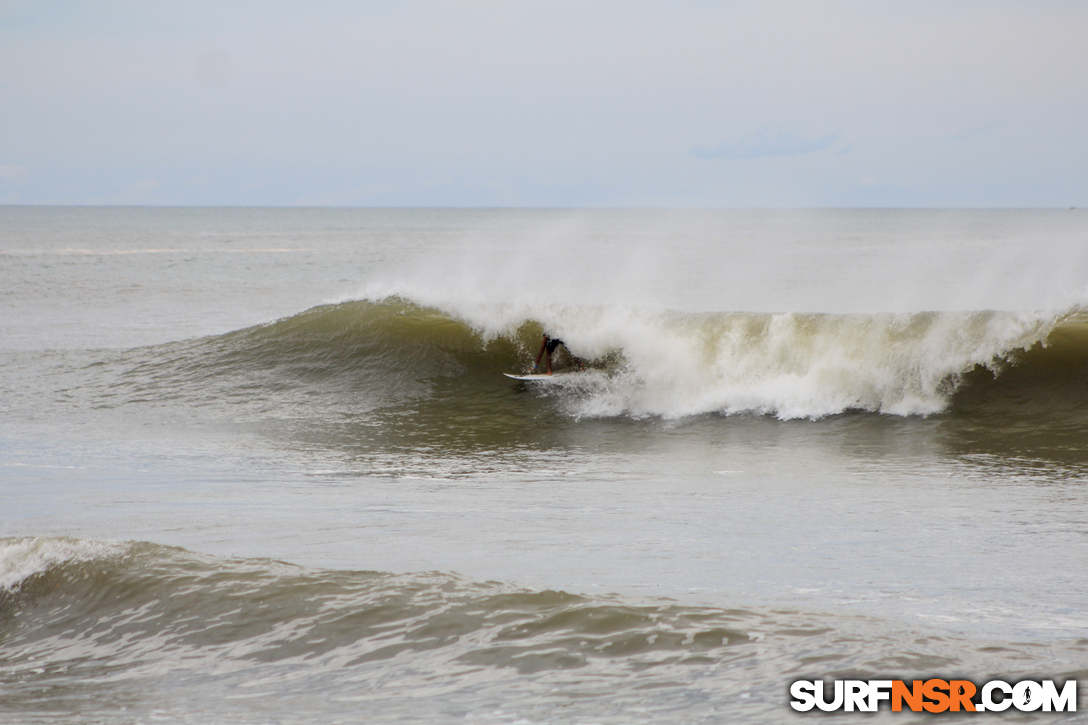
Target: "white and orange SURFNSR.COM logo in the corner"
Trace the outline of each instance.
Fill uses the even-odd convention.
[[[790,686],[790,706],[832,712],[876,712],[882,702],[892,712],[1076,712],[1077,681],[1059,687],[1052,679],[1009,684],[993,679],[978,687],[966,679],[799,679]]]

